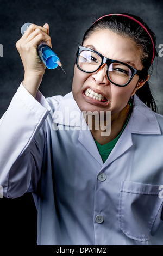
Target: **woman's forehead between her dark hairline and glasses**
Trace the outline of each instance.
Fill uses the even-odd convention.
[[[117,35],[109,29],[93,32],[84,41],[83,46],[93,48],[107,58],[134,63],[137,69],[142,68],[141,51],[134,41],[125,36]]]

